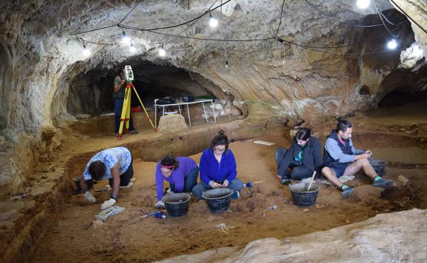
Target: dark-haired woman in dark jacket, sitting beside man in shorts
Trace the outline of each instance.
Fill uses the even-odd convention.
[[[311,129],[300,128],[292,139],[289,150],[276,150],[277,175],[281,183],[292,179],[302,180],[309,178],[316,171],[316,178],[320,178],[322,168],[322,144],[311,136]]]

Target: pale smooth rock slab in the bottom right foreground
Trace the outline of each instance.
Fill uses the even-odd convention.
[[[427,212],[413,209],[378,214],[372,219],[332,230],[277,240],[255,240],[243,249],[224,247],[170,262],[424,262]]]

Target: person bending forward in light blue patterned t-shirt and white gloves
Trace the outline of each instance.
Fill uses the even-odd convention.
[[[109,200],[103,202],[101,209],[113,206],[117,201],[118,189],[127,188],[133,185],[132,154],[125,147],[115,147],[105,149],[92,158],[86,165],[83,176],[80,180],[81,190],[84,197],[90,202],[96,202],[95,197],[88,191],[88,180],[109,180],[112,186],[112,195]]]

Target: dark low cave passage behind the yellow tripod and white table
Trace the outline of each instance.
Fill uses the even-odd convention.
[[[232,102],[233,95],[226,94],[218,85],[215,85],[209,79],[201,76],[200,74],[187,71],[183,68],[177,68],[170,64],[154,64],[151,61],[141,61],[138,59],[129,59],[122,64],[117,64],[112,67],[112,70],[105,68],[93,68],[86,73],[78,74],[70,81],[68,98],[66,100],[66,109],[68,113],[87,117],[101,116],[104,119],[94,122],[93,125],[99,128],[89,128],[91,123],[82,124],[86,128],[79,128],[75,125],[77,130],[84,133],[84,130],[90,130],[93,133],[112,133],[114,130],[114,99],[113,83],[114,78],[119,75],[120,70],[129,65],[132,67],[134,80],[133,85],[140,95],[142,103],[146,107],[151,120],[155,120],[155,100],[159,98],[168,97],[171,102],[183,100],[183,98],[197,99],[211,99],[216,105],[204,105],[208,107],[198,107],[194,105],[191,111],[181,107],[168,107],[166,112],[180,110],[183,117],[186,119],[187,124],[204,124],[207,119],[215,120],[218,116],[237,116],[242,115],[242,111],[237,109]],[[221,105],[217,105],[217,102]],[[159,103],[157,103],[159,104]],[[169,103],[174,104],[174,103]],[[151,130],[149,122],[144,120],[144,112],[140,106],[138,98],[132,92],[131,107],[133,108],[133,119],[136,130]],[[222,110],[225,109],[226,110]],[[185,107],[186,108],[186,107]],[[213,110],[216,111],[216,116],[213,116]],[[163,111],[162,111],[163,113]],[[108,116],[108,117],[105,117]],[[159,117],[159,116],[157,116]],[[190,120],[191,119],[191,120]],[[158,120],[158,118],[157,118]]]

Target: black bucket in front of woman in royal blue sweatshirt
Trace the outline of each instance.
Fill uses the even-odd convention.
[[[202,197],[211,212],[218,214],[229,210],[233,193],[234,191],[229,188],[216,188],[203,192]]]

